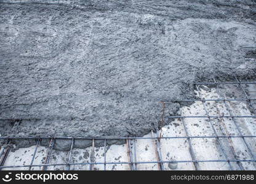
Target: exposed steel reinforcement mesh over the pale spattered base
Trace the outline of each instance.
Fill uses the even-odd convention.
[[[244,167],[243,163],[252,163],[255,167],[255,148],[252,147],[252,144],[255,142],[255,135],[247,134],[245,133],[239,124],[241,118],[242,119],[253,119],[252,126],[255,128],[255,107],[254,102],[256,99],[254,96],[250,95],[246,91],[246,86],[255,86],[256,82],[251,82],[249,80],[246,81],[240,81],[238,78],[234,77],[234,81],[232,82],[220,82],[217,80],[213,80],[212,82],[200,82],[200,83],[194,83],[195,89],[198,91],[198,99],[184,99],[180,102],[199,102],[202,104],[202,107],[204,109],[204,112],[198,112],[198,114],[204,113],[204,115],[183,115],[182,110],[180,109],[178,112],[178,115],[175,116],[166,116],[165,108],[168,103],[171,102],[161,102],[162,103],[162,121],[166,121],[166,119],[178,119],[182,123],[183,132],[185,136],[165,136],[164,134],[161,134],[161,131],[153,132],[151,131],[151,137],[23,137],[23,138],[17,138],[17,137],[0,137],[2,140],[6,140],[6,145],[3,145],[0,152],[0,169],[14,169],[15,167],[26,167],[27,169],[31,170],[33,167],[37,167],[42,170],[47,170],[50,166],[65,166],[67,170],[74,169],[74,166],[88,166],[87,168],[89,170],[93,170],[94,166],[101,165],[103,166],[103,170],[108,170],[108,164],[126,164],[129,166],[128,168],[130,170],[138,170],[138,164],[156,164],[157,168],[159,170],[166,170],[165,164],[173,164],[175,166],[175,163],[191,163],[193,165],[194,170],[201,170],[200,164],[201,163],[225,163],[227,164],[227,167],[230,170],[246,170],[247,168]],[[236,86],[240,93],[242,94],[242,98],[226,98],[225,95],[222,96],[222,98],[216,98],[216,99],[205,99],[201,92],[201,86],[214,86],[214,88],[222,88],[222,86],[229,88],[230,85]],[[211,111],[209,110],[209,107],[207,107],[208,102],[217,102],[221,103],[223,107],[226,109],[226,113],[221,113],[220,110],[215,108],[215,112],[217,115],[212,115]],[[230,102],[244,102],[247,104],[247,107],[250,109],[250,115],[248,113],[246,114],[239,114],[233,112],[233,109],[231,105],[228,103]],[[202,109],[201,109],[202,110]],[[242,112],[242,111],[241,111]],[[206,119],[209,122],[210,129],[212,129],[212,135],[199,135],[194,136],[190,134],[189,128],[188,128],[188,122],[185,120],[188,120],[190,118],[195,118],[196,120],[199,119]],[[237,134],[233,134],[230,132],[230,128],[226,125],[225,119],[230,120],[232,123],[232,126],[236,129],[238,132]],[[218,123],[216,126],[215,123]],[[221,127],[223,134],[219,134],[219,130],[217,129],[218,126]],[[236,150],[236,145],[234,145],[233,139],[241,139],[241,143],[243,144],[243,147],[245,148],[245,152],[247,155],[249,155],[247,158],[242,158],[241,156],[238,156],[238,151]],[[22,164],[22,165],[6,165],[6,158],[10,153],[10,146],[9,144],[12,142],[12,139],[31,139],[36,141],[36,147],[34,148],[33,154],[27,154],[31,158],[30,164]],[[49,147],[47,147],[46,157],[44,158],[44,161],[42,161],[41,164],[35,164],[34,159],[36,158],[36,154],[38,152],[38,148],[40,147],[40,142],[42,139],[49,139]],[[66,163],[50,163],[50,157],[52,155],[52,151],[54,150],[55,140],[57,139],[67,139],[70,140],[71,146],[70,151],[68,153],[68,158],[66,159]],[[104,147],[103,147],[103,160],[101,162],[95,161],[95,141],[97,140],[104,140]],[[127,161],[107,161],[107,141],[113,139],[122,139],[126,140],[126,154],[127,154]],[[153,142],[154,145],[154,159],[150,159],[148,161],[138,161],[138,155],[137,155],[137,142],[138,140],[142,139],[148,139]],[[179,160],[179,159],[165,159],[162,155],[162,142],[164,140],[178,140],[178,139],[185,139],[188,144],[188,152],[190,154],[191,159],[187,160]],[[196,139],[215,139],[216,144],[220,148],[220,152],[222,153],[222,159],[201,159],[201,156],[196,154],[195,148],[198,147],[198,145],[193,144],[193,140]],[[73,156],[74,152],[74,141],[76,140],[91,140],[92,141],[92,147],[90,147],[90,155],[89,155],[89,161],[84,162],[80,161],[78,163],[74,163],[71,157]],[[226,142],[226,144],[225,144]],[[227,151],[227,148],[230,151]],[[170,150],[171,152],[172,150]],[[71,168],[72,167],[72,168]],[[49,168],[48,168],[49,169]]]

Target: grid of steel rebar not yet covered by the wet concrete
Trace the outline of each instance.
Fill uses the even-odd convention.
[[[243,134],[238,122],[240,120],[240,118],[256,118],[255,115],[255,107],[254,104],[252,104],[252,101],[256,101],[256,99],[250,98],[250,96],[246,93],[246,90],[244,88],[243,85],[255,85],[256,82],[249,82],[247,80],[247,82],[241,82],[238,80],[238,78],[236,76],[234,76],[234,81],[235,82],[217,82],[215,79],[213,79],[213,82],[198,82],[198,83],[194,83],[196,90],[199,93],[199,99],[184,99],[181,101],[177,101],[177,102],[201,102],[201,104],[203,105],[203,109],[204,109],[204,113],[206,115],[190,115],[190,116],[185,116],[182,115],[182,110],[179,110],[179,115],[174,115],[174,116],[167,116],[166,118],[171,118],[171,119],[175,119],[175,118],[180,118],[180,120],[182,121],[182,126],[184,128],[185,131],[185,135],[186,136],[162,136],[161,133],[159,133],[159,131],[151,131],[151,137],[0,137],[0,140],[6,140],[6,142],[10,142],[12,139],[32,139],[36,141],[36,147],[34,149],[34,154],[31,158],[31,163],[28,165],[18,165],[18,166],[5,166],[4,163],[6,161],[6,158],[9,154],[10,151],[10,146],[7,145],[7,147],[4,147],[2,149],[2,151],[0,152],[0,170],[4,169],[4,168],[8,168],[8,169],[12,169],[14,167],[28,167],[29,170],[31,170],[32,167],[41,167],[43,170],[47,170],[47,167],[49,166],[65,166],[67,170],[70,170],[71,166],[85,166],[85,165],[89,165],[89,169],[93,170],[93,166],[94,165],[103,165],[104,166],[104,170],[106,170],[106,166],[108,164],[127,164],[129,165],[130,170],[137,170],[137,166],[138,164],[158,164],[158,169],[159,170],[165,170],[164,167],[164,163],[193,163],[194,169],[195,170],[201,170],[199,163],[219,163],[219,162],[223,162],[223,163],[227,163],[228,167],[230,168],[230,170],[235,170],[234,166],[231,163],[236,163],[237,166],[239,167],[240,170],[244,170],[245,168],[242,166],[242,163],[244,162],[256,162],[255,159],[255,152],[254,150],[250,147],[250,145],[248,144],[247,140],[250,139],[254,139],[256,138],[256,135],[246,135]],[[220,85],[236,85],[238,86],[238,88],[241,90],[242,94],[243,94],[243,98],[238,98],[238,99],[228,99],[226,98],[226,96],[221,96],[221,98],[218,99],[203,99],[202,95],[200,93],[200,86],[204,85],[215,85],[215,87],[219,88]],[[222,102],[223,105],[225,105],[225,108],[228,112],[228,115],[221,115],[219,110],[217,109],[218,115],[210,115],[207,107],[206,107],[206,102],[207,101],[213,101],[213,102]],[[247,103],[247,105],[249,105],[253,111],[252,114],[254,115],[234,115],[234,113],[232,112],[232,110],[230,109],[229,105],[227,104],[227,102],[236,102],[236,101],[243,101],[245,103]],[[168,103],[172,103],[170,101],[163,101],[161,102],[163,104],[163,108],[166,106],[166,104]],[[162,121],[164,121],[164,109],[163,109],[163,116]],[[188,127],[186,125],[186,122],[184,121],[186,118],[206,118],[208,120],[208,122],[210,123],[210,127],[212,128],[212,131],[214,132],[212,135],[210,136],[190,136],[190,133],[188,131]],[[214,124],[212,123],[212,120],[214,119],[218,119],[220,120],[221,126],[224,130],[224,134],[225,135],[219,135],[217,133],[217,130],[214,127]],[[238,131],[239,135],[231,135],[230,132],[228,131],[228,129],[226,128],[225,122],[223,121],[225,118],[231,118],[234,126],[236,127],[236,130]],[[222,144],[222,142],[220,141],[220,138],[225,139],[228,141],[228,147],[230,147],[231,153],[233,154],[234,159],[229,159],[228,157],[228,153],[226,153],[226,150],[224,148],[224,145]],[[248,151],[250,158],[249,159],[239,159],[239,156],[236,153],[236,149],[234,148],[234,144],[233,144],[233,140],[231,138],[241,138],[242,142],[246,148],[246,150]],[[245,139],[247,138],[247,139]],[[36,156],[36,152],[38,150],[38,147],[40,145],[40,142],[42,139],[49,139],[49,147],[47,148],[47,156],[44,160],[44,163],[42,164],[34,164],[34,158]],[[50,156],[52,154],[52,150],[54,149],[54,143],[55,140],[58,139],[66,139],[66,140],[70,140],[70,153],[68,154],[68,163],[57,163],[57,164],[51,164],[50,162]],[[155,150],[155,156],[156,156],[156,160],[154,161],[137,161],[137,150],[136,150],[136,142],[137,140],[140,139],[151,139],[153,141],[153,145],[154,145],[154,150]],[[188,140],[188,151],[190,153],[191,159],[188,160],[164,160],[162,157],[162,151],[161,151],[161,140],[162,139],[186,139]],[[198,156],[196,155],[196,152],[194,151],[194,146],[191,144],[191,140],[193,139],[216,139],[218,146],[220,147],[220,150],[222,151],[225,159],[199,159]],[[92,150],[90,151],[90,161],[88,163],[72,163],[71,157],[73,154],[73,148],[74,148],[74,141],[75,140],[92,140]],[[103,162],[96,162],[95,161],[95,156],[94,156],[94,149],[95,149],[95,140],[103,140],[104,141],[104,161]],[[107,146],[107,140],[126,140],[126,145],[127,145],[127,158],[128,161],[127,162],[107,162],[106,161],[106,146]]]

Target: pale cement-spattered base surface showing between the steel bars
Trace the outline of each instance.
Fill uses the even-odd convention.
[[[251,90],[252,91],[252,90]],[[197,92],[198,93],[198,92]],[[221,98],[215,89],[211,90],[200,90],[201,97],[207,99]],[[252,95],[252,94],[251,94]],[[244,102],[227,102],[236,115],[252,115],[247,105]],[[223,105],[223,102],[210,101],[206,104],[209,115],[228,115],[228,112]],[[182,107],[182,115],[206,115],[204,113],[204,107],[201,102],[194,102],[190,106]],[[220,119],[211,118],[212,124],[217,131],[218,136],[225,136],[223,123],[228,130],[230,136],[239,136],[237,129],[234,126],[233,121],[230,118],[223,118],[223,123],[220,123]],[[214,131],[211,128],[210,122],[207,118],[184,118],[184,123],[188,129],[189,136],[212,136]],[[246,135],[255,135],[256,127],[254,118],[239,118],[239,128]],[[170,125],[164,126],[161,131],[162,137],[182,137],[186,136],[184,126],[181,119],[175,119]],[[151,134],[147,134],[144,137],[151,137]],[[247,148],[242,143],[242,138],[231,138],[233,142],[235,154],[238,159],[251,159]],[[246,138],[250,148],[256,151],[255,138]],[[226,138],[220,138],[220,142],[226,152],[229,159],[234,159],[234,154],[231,151],[231,147]],[[161,151],[162,159],[164,161],[191,161],[191,154],[189,150],[188,139],[161,139]],[[225,159],[223,152],[220,148],[220,144],[217,139],[191,139],[191,144],[194,149],[194,155],[197,160],[213,160],[213,159]],[[135,140],[136,159],[138,162],[143,161],[157,161],[156,151],[154,149],[152,139],[137,139]],[[19,148],[15,152],[10,152],[5,166],[17,166],[30,164],[35,146],[29,148]],[[42,164],[46,157],[45,147],[39,147],[34,159],[34,164]],[[134,144],[131,145],[130,150],[134,153]],[[71,157],[71,163],[89,163],[90,153],[92,147],[85,149],[74,148]],[[94,148],[94,162],[104,163],[104,147]],[[134,154],[133,154],[134,155]],[[69,151],[57,151],[53,150],[52,156],[50,156],[50,164],[68,163]],[[111,145],[106,148],[106,162],[128,162],[127,156],[127,145]],[[198,163],[199,169],[202,170],[227,170],[230,169],[226,162],[207,162]],[[233,169],[239,169],[238,163],[231,162]],[[252,162],[241,162],[241,166],[246,170],[256,169]],[[24,169],[28,167],[19,167],[12,169]],[[32,167],[33,170],[42,169],[42,167]],[[67,166],[48,166],[47,169],[58,170],[67,169]],[[70,167],[71,170],[89,170],[89,165],[75,165]],[[92,170],[103,170],[103,164],[94,164]],[[129,164],[106,164],[106,170],[129,170]],[[158,170],[158,164],[137,164],[138,170]],[[164,163],[165,170],[194,170],[195,166],[193,163]]]

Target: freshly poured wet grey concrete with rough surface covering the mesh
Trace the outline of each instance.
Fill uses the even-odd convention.
[[[254,1],[78,2],[0,4],[1,136],[142,136],[193,82],[255,75]]]

